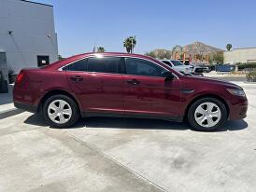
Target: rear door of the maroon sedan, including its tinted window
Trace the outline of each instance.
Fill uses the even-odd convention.
[[[71,89],[88,115],[123,113],[121,60],[119,57],[90,57],[84,60],[83,72],[66,72]]]

